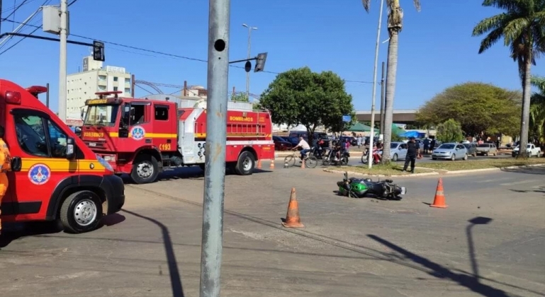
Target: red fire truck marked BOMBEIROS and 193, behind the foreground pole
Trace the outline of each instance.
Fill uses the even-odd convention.
[[[192,165],[204,169],[206,108],[121,98],[119,93],[99,92],[99,98],[86,100],[82,127],[85,144],[116,174],[127,173],[135,183],[145,184],[163,170]],[[238,175],[251,175],[258,160],[274,158],[269,112],[230,108],[225,148],[227,168]]]

